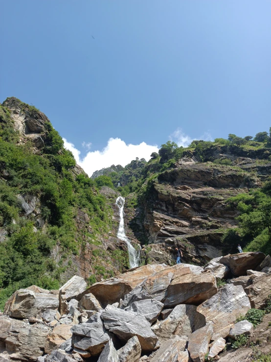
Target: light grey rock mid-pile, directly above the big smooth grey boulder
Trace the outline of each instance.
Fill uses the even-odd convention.
[[[156,299],[144,299],[130,304],[125,308],[125,311],[142,315],[150,323],[153,323],[157,320],[163,306],[163,303],[158,302]]]

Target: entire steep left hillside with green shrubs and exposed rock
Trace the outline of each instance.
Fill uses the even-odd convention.
[[[0,105],[2,302],[31,284],[58,289],[74,273],[91,284],[128,268],[117,193],[98,189],[45,114],[14,97]]]

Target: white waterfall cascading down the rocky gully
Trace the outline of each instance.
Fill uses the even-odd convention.
[[[116,199],[116,205],[119,208],[119,217],[120,217],[119,227],[117,231],[117,238],[127,243],[130,268],[135,268],[136,266],[139,265],[140,248],[139,250],[136,250],[134,246],[131,244],[130,240],[125,235],[124,218],[123,218],[124,202],[125,198],[122,196],[118,196],[118,198]]]

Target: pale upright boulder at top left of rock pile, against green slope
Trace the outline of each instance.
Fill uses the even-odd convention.
[[[74,275],[68,280],[59,290],[59,309],[60,314],[66,314],[68,311],[68,302],[71,299],[78,299],[78,295],[84,292],[87,288],[85,279]]]

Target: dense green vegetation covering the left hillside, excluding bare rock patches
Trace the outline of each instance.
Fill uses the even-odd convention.
[[[32,117],[39,114],[35,107],[19,105]],[[19,288],[59,288],[71,254],[78,254],[80,245],[110,225],[109,207],[97,191],[101,184],[84,173],[75,177],[75,160],[49,122],[42,151],[33,153],[31,141],[18,141],[9,110],[0,106],[0,231],[5,231],[0,243],[0,308]],[[35,196],[34,213],[26,217],[18,195]],[[76,228],[78,210],[90,219],[90,235],[86,228]],[[62,255],[58,264],[50,257],[56,244]]]

